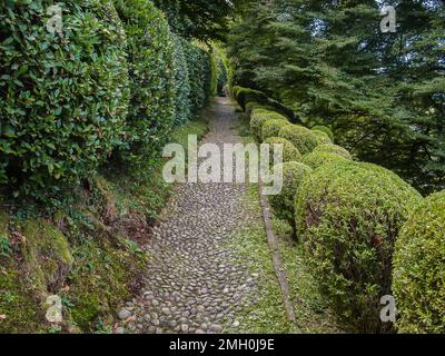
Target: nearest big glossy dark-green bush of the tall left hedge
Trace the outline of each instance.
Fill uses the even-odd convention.
[[[90,176],[123,138],[126,37],[111,1],[0,3],[0,182],[42,198]]]

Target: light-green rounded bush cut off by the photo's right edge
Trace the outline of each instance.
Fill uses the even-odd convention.
[[[402,333],[445,333],[445,191],[427,197],[398,235],[393,291]]]

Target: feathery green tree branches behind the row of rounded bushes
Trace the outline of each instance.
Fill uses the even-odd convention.
[[[445,187],[445,3],[275,0],[253,4],[228,43],[234,81],[327,125],[365,161],[423,191]]]

